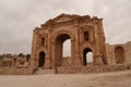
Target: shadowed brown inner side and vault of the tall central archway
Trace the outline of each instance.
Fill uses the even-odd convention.
[[[66,40],[70,40],[70,36],[68,34],[60,34],[55,41],[55,65],[61,66],[63,62],[63,42]],[[71,49],[70,49],[71,50]]]

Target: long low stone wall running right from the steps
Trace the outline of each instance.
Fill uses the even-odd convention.
[[[91,66],[68,66],[58,67],[56,73],[58,74],[85,74],[85,73],[98,73],[98,72],[112,72],[131,70],[131,65],[91,65]]]

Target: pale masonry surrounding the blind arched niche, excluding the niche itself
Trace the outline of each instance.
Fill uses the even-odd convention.
[[[117,47],[121,47],[123,48],[124,51],[124,62],[121,64],[131,64],[131,41],[127,42],[127,44],[118,44],[118,45],[109,45],[106,44],[106,51],[107,51],[107,60],[108,60],[108,64],[109,65],[115,65],[116,63],[116,52],[115,49]]]

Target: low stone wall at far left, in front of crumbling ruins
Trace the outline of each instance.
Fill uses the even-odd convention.
[[[33,69],[9,69],[0,67],[0,75],[31,75]]]

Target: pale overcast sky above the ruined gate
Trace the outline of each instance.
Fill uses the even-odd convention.
[[[29,53],[33,29],[61,13],[103,17],[106,42],[131,40],[131,0],[0,0],[0,53]]]

